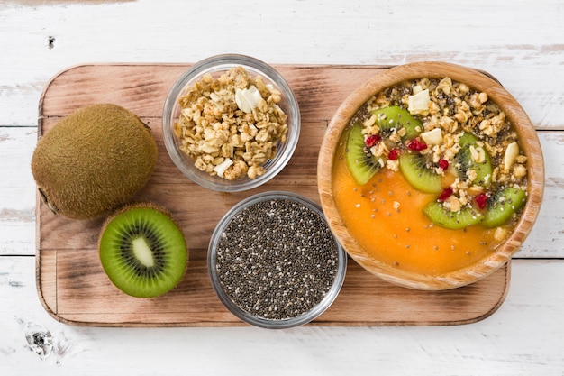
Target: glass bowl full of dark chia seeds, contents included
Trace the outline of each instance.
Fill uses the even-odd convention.
[[[291,192],[242,200],[209,243],[215,293],[242,321],[270,329],[302,326],[337,298],[347,255],[321,208]]]

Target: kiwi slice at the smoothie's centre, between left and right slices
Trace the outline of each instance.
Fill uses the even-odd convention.
[[[429,166],[427,159],[418,152],[405,152],[399,157],[399,170],[415,189],[425,193],[440,193],[442,177]]]

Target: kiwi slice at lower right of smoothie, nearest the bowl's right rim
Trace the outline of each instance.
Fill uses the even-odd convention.
[[[527,199],[527,192],[520,188],[504,188],[488,200],[487,212],[481,222],[485,227],[504,225],[515,212],[521,210]]]

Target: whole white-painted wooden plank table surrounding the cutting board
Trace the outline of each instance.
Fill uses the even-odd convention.
[[[396,4],[397,3],[397,4]],[[0,1],[0,375],[564,375],[564,6],[450,2]],[[35,286],[30,160],[43,87],[85,62],[446,60],[487,70],[544,152],[544,204],[493,316],[465,326],[100,328],[49,316]],[[49,331],[41,358],[26,333]]]

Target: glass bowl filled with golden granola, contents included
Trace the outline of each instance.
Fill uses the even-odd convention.
[[[190,67],[165,101],[162,128],[168,154],[189,179],[223,192],[259,187],[296,150],[296,96],[268,64],[238,54]]]

